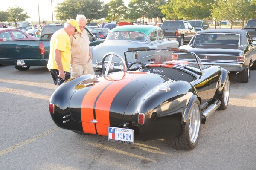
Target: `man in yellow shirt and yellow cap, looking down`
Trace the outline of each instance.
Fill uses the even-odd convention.
[[[50,41],[50,55],[47,68],[52,75],[53,82],[61,85],[70,78],[71,44],[70,36],[81,34],[76,20],[67,20],[63,29],[56,31]]]

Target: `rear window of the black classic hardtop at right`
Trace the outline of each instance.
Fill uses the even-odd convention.
[[[226,34],[226,33],[207,33],[207,34],[197,34],[193,38],[192,43],[190,45],[194,46],[208,46],[209,44],[214,44],[212,45],[211,48],[225,48],[225,45],[227,45],[227,48],[232,47],[233,48],[238,48],[239,46],[239,40],[240,40],[240,35],[238,34]]]

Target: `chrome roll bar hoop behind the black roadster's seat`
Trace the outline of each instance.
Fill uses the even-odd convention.
[[[105,63],[105,59],[106,59],[109,55],[110,55],[110,57],[109,57],[109,59],[108,59],[108,65],[107,65],[107,68],[106,68],[106,71],[105,71],[104,63]],[[108,75],[108,71],[109,71],[109,69],[110,69],[110,64],[111,64],[111,61],[112,61],[113,56],[116,56],[117,58],[120,59],[120,61],[122,62],[123,70],[124,70],[124,72],[126,72],[127,69],[126,69],[125,61],[124,61],[124,59],[122,58],[122,56],[119,55],[119,54],[117,54],[117,53],[115,53],[115,52],[109,52],[109,53],[105,54],[105,55],[103,56],[103,58],[102,58],[102,75]]]

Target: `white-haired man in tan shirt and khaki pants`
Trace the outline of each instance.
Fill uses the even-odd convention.
[[[90,51],[90,41],[86,27],[87,19],[84,15],[77,15],[81,35],[76,34],[71,39],[71,77],[92,74],[94,75],[92,56]]]

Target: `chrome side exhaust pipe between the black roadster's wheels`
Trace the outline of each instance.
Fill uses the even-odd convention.
[[[214,113],[218,107],[221,105],[221,101],[217,98],[213,98],[207,101],[207,108],[202,112],[202,124],[205,124],[205,121]]]

